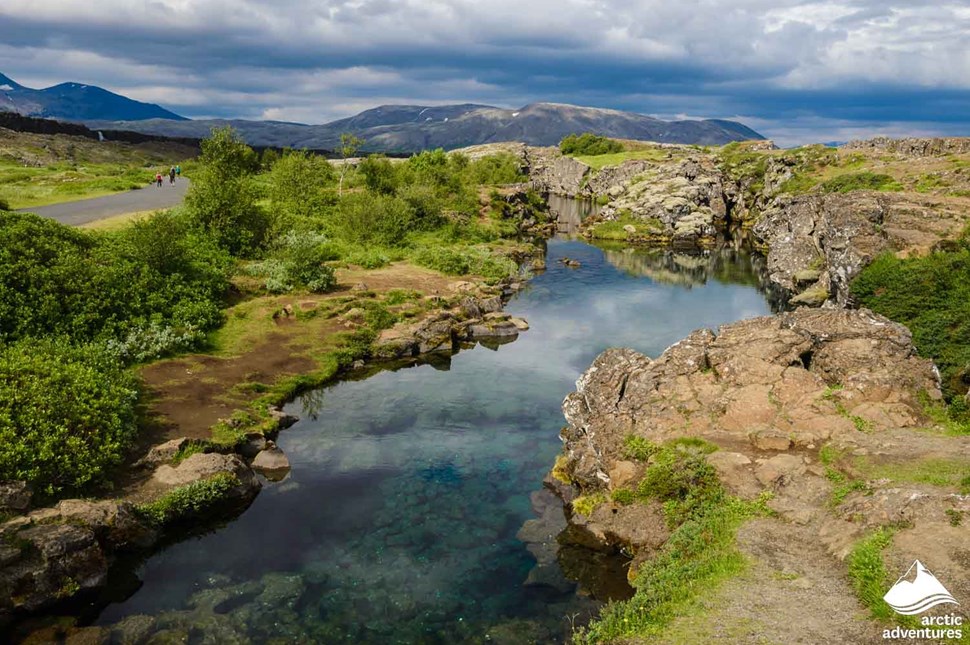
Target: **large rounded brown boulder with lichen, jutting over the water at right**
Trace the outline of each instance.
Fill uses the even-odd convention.
[[[926,421],[920,397],[939,396],[933,365],[909,331],[867,310],[800,309],[694,332],[650,360],[609,349],[563,402],[568,472],[605,488],[623,441],[700,436],[784,450],[857,426]]]

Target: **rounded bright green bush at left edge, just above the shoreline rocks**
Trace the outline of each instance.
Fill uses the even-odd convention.
[[[0,346],[0,479],[45,496],[101,481],[136,435],[135,378],[102,347]]]

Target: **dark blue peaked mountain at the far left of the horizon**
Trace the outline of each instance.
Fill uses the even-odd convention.
[[[0,111],[47,119],[140,121],[185,117],[153,103],[142,103],[94,85],[61,83],[42,90],[24,87],[0,74]]]

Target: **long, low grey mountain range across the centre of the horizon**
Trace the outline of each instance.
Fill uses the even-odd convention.
[[[574,132],[704,145],[764,139],[754,130],[735,121],[663,121],[634,112],[560,103],[533,103],[518,110],[474,104],[436,107],[383,105],[324,125],[220,119],[148,119],[121,123],[101,120],[89,121],[87,125],[179,137],[204,137],[213,127],[231,125],[250,145],[329,150],[340,144],[341,134],[352,132],[366,141],[364,150],[381,152],[414,152],[429,148],[447,150],[500,141],[551,146]]]

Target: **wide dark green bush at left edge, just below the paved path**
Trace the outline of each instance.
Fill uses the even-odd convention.
[[[95,235],[0,214],[0,342],[105,340],[134,360],[185,348],[221,322],[231,267],[177,215]]]

